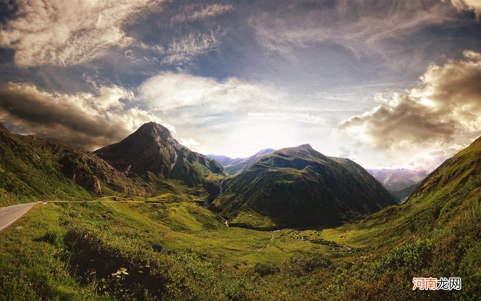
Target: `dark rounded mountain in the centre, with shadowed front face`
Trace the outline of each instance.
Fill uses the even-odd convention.
[[[339,225],[396,203],[362,167],[309,144],[266,155],[221,186],[210,208],[230,224],[260,229]]]

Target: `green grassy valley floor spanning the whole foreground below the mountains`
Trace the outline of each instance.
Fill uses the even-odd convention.
[[[336,229],[256,231],[226,227],[193,202],[48,202],[0,233],[0,299],[476,297],[481,213],[471,216],[471,242],[457,242],[457,263],[446,265],[452,233],[389,221],[424,210],[407,206]],[[411,290],[413,276],[429,275],[462,276],[467,290]]]

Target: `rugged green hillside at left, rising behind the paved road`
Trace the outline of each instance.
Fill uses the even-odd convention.
[[[226,175],[215,161],[203,161],[201,155],[190,151],[184,154],[182,149],[178,150],[180,156],[173,173],[182,170],[190,179],[188,183],[153,172],[129,177],[93,153],[55,139],[17,135],[3,129],[0,142],[0,206],[102,196],[143,199],[162,194],[176,200],[207,202],[218,193],[219,179]]]

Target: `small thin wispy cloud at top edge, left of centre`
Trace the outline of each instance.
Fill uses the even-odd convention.
[[[171,24],[184,23],[184,22],[195,22],[202,19],[212,18],[215,16],[222,15],[233,9],[231,5],[203,5],[200,3],[188,4],[183,6],[182,12],[173,16],[170,19]]]

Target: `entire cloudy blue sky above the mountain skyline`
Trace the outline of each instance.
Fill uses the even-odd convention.
[[[481,1],[0,3],[0,122],[95,150],[310,143],[431,171],[481,135]]]

